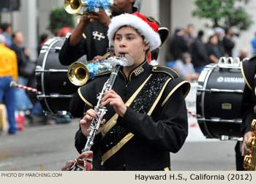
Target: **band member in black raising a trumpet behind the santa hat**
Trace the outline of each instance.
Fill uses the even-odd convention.
[[[136,12],[133,7],[135,0],[115,0],[113,4],[112,15],[120,15],[124,12]],[[94,22],[90,22],[94,19]],[[108,49],[108,25],[110,17],[105,10],[99,8],[99,12],[94,15],[80,18],[78,26],[73,33],[64,42],[59,53],[59,61],[63,65],[69,65],[77,61],[83,55],[86,55],[87,61],[91,61],[96,55],[104,55]]]

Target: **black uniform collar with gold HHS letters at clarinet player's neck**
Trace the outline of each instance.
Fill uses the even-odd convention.
[[[135,69],[132,69],[132,71],[129,72],[127,80],[131,81],[135,79],[135,77],[139,77],[140,75],[148,73],[148,70],[149,70],[149,64],[148,64],[148,61],[145,60],[140,65],[136,66]],[[121,74],[125,76],[124,72],[122,71],[121,71]]]

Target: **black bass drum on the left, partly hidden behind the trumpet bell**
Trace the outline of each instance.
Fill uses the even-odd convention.
[[[69,82],[68,66],[59,62],[59,51],[65,39],[54,37],[45,42],[37,61],[37,99],[48,115],[60,116],[69,112],[69,101],[78,86]]]

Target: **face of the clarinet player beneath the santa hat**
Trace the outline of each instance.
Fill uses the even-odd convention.
[[[146,50],[149,48],[149,46],[143,42],[143,37],[130,26],[122,27],[116,31],[114,47],[116,55],[132,55],[135,66],[145,60]]]

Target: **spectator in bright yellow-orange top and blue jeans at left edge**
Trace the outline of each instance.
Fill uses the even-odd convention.
[[[0,34],[0,103],[7,107],[9,134],[16,134],[15,122],[15,88],[10,88],[12,80],[18,80],[18,62],[16,54],[5,45],[5,37]]]

